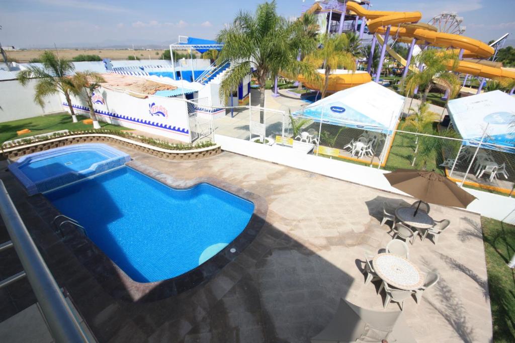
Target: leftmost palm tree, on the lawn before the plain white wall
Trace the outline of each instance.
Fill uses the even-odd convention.
[[[39,57],[43,64],[42,67],[29,65],[26,69],[18,73],[16,78],[22,85],[27,85],[30,79],[36,78],[36,93],[34,101],[41,107],[44,106],[44,98],[56,93],[63,93],[72,114],[73,122],[77,123],[77,117],[72,107],[70,94],[75,94],[76,90],[68,76],[72,75],[75,66],[71,61],[58,58],[53,52],[45,51]]]

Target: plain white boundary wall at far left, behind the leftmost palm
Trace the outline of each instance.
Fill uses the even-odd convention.
[[[45,107],[34,102],[36,80],[30,80],[23,87],[17,80],[0,81],[0,123],[62,112],[59,95],[45,98]]]

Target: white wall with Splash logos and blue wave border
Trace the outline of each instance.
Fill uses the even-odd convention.
[[[153,95],[142,99],[105,88],[100,88],[98,94],[100,98],[93,99],[97,100],[93,107],[100,121],[190,142],[186,102],[182,99]],[[63,110],[67,110],[64,96],[62,103]],[[72,96],[72,104],[77,113],[89,115],[89,108],[82,98]]]

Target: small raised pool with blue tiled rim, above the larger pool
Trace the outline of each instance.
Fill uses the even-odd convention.
[[[106,144],[87,143],[31,153],[9,165],[29,195],[102,173],[130,161]]]

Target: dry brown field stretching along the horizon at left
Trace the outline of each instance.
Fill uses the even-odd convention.
[[[44,50],[20,50],[8,51],[7,56],[20,63],[26,63],[31,59],[38,58]],[[55,50],[54,50],[55,51]],[[129,56],[134,56],[132,50],[114,49],[62,49],[58,50],[59,57],[71,60],[77,55],[98,55],[100,58],[110,58],[112,60],[126,60]],[[157,60],[161,57],[163,50],[135,50],[136,57],[141,60]]]

